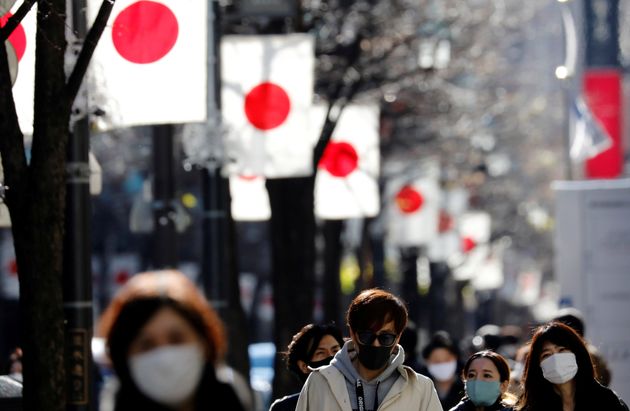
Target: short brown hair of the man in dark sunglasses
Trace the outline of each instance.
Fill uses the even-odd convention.
[[[357,295],[346,313],[346,322],[353,331],[380,329],[393,321],[396,334],[407,326],[407,307],[394,294],[379,288],[370,288]]]

